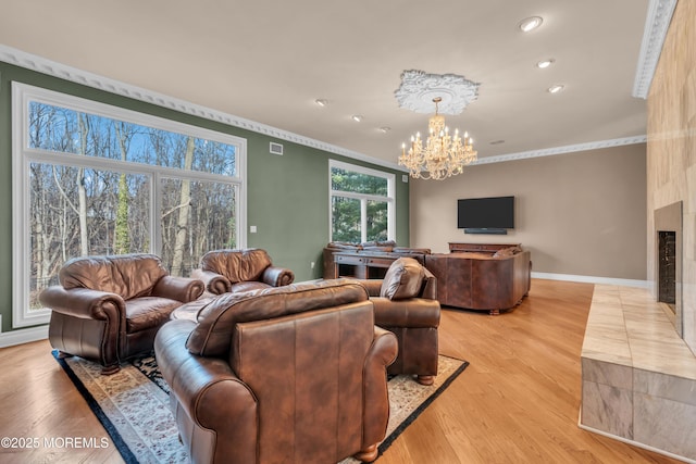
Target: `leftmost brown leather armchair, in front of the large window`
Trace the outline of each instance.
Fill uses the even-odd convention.
[[[107,375],[152,350],[172,310],[203,292],[202,281],[170,276],[153,254],[75,258],[61,267],[59,280],[39,294],[52,310],[51,346],[62,356],[100,363]]]

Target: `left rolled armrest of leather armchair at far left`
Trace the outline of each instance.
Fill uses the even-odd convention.
[[[66,290],[60,285],[49,287],[39,294],[39,301],[52,311],[83,319],[112,319],[116,324],[125,322],[125,301],[115,293],[72,288]]]

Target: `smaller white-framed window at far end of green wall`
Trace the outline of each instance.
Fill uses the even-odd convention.
[[[393,240],[394,174],[331,161],[331,240]]]

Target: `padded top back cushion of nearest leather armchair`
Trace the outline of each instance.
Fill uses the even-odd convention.
[[[222,358],[229,353],[233,329],[237,323],[270,319],[368,299],[364,287],[349,279],[224,293],[200,309],[198,325],[186,340],[186,348],[194,354]]]

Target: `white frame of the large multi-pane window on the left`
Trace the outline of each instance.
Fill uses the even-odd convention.
[[[87,100],[66,93],[57,92],[26,84],[12,83],[12,327],[27,327],[47,324],[50,319],[49,309],[29,311],[29,272],[30,272],[30,230],[29,224],[29,164],[33,162],[74,165],[117,171],[132,174],[144,174],[151,178],[150,204],[153,211],[161,209],[157,189],[162,177],[181,178],[181,171],[171,167],[124,163],[97,156],[82,156],[71,153],[32,149],[28,143],[29,102],[71,109],[77,112],[96,114],[116,121],[138,124],[156,129],[173,131],[196,138],[213,140],[236,147],[235,177],[197,171],[187,171],[186,178],[202,181],[222,181],[237,186],[237,246],[245,248],[247,243],[247,140],[228,134],[206,129],[189,124],[178,123],[159,116],[152,116],[120,106]],[[161,250],[160,222],[157,214],[150,217],[149,252]]]

